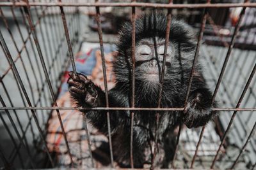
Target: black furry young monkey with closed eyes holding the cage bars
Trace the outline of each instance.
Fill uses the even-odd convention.
[[[161,70],[165,67],[161,108],[183,108],[196,50],[196,36],[184,21],[172,18],[170,36],[163,66],[164,41],[167,18],[163,13],[148,13],[136,19],[135,48],[135,108],[157,108],[161,89]],[[108,91],[109,107],[131,107],[132,82],[132,25],[126,22],[118,32],[118,55],[113,63],[116,85]],[[70,95],[79,107],[105,107],[105,93],[83,74],[69,73]],[[212,108],[212,92],[207,87],[202,66],[195,64],[195,71],[185,111],[134,111],[133,162],[134,167],[152,162],[152,145],[157,138],[157,156],[154,166],[168,167],[173,159],[176,140],[175,129],[182,122],[188,128],[200,127],[216,115]],[[84,111],[86,118],[99,132],[108,136],[106,111]],[[111,141],[115,161],[120,167],[131,167],[130,138],[131,111],[109,111]],[[148,163],[149,162],[149,163]]]

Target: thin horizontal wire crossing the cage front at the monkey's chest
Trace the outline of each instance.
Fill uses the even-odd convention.
[[[1,107],[0,110],[152,110],[183,111],[184,108],[80,108],[80,107]],[[212,108],[213,111],[256,111],[256,108]]]

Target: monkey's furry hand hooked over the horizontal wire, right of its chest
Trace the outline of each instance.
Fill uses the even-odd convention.
[[[188,128],[205,125],[212,118],[211,97],[208,89],[191,92],[183,117]]]

